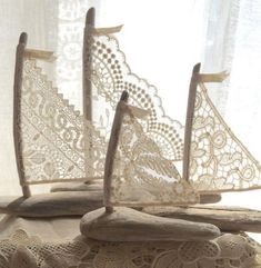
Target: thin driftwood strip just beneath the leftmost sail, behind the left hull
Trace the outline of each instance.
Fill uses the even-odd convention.
[[[51,192],[57,191],[102,191],[103,180],[96,179],[83,182],[58,183],[51,188]]]

